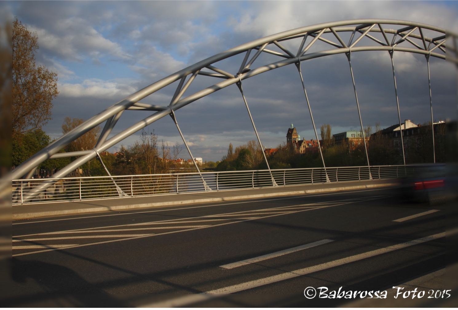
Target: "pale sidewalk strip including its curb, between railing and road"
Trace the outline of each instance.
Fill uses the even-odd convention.
[[[237,199],[256,199],[284,195],[313,194],[351,190],[370,187],[393,186],[397,180],[355,181],[343,183],[321,183],[275,188],[253,188],[233,191],[210,191],[191,194],[168,194],[162,196],[142,196],[105,200],[84,200],[47,204],[15,205],[12,210],[13,220],[29,219],[40,216],[126,210],[135,208],[160,207],[168,205],[187,205],[205,202],[218,202]]]

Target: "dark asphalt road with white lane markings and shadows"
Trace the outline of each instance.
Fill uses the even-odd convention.
[[[2,304],[335,306],[349,300],[306,299],[305,288],[382,290],[450,262],[444,237],[457,223],[456,202],[411,204],[397,194],[366,189],[14,221],[12,295]]]

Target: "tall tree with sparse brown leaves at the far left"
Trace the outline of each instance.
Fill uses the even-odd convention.
[[[16,18],[12,29],[12,135],[41,128],[51,118],[59,94],[57,73],[35,65],[38,36]]]

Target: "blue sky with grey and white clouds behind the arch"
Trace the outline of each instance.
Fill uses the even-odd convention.
[[[37,32],[38,64],[58,73],[60,94],[53,101],[53,120],[43,128],[54,138],[61,136],[65,116],[86,120],[197,61],[285,30],[346,19],[387,18],[458,32],[456,1],[7,1],[1,5],[27,24],[29,30]],[[297,50],[299,44],[294,41],[288,47]],[[316,44],[314,48],[327,50],[329,45]],[[235,73],[242,58],[237,55],[218,65]],[[263,53],[253,67],[278,60],[277,56]],[[416,123],[428,121],[431,116],[425,57],[396,52],[394,60],[401,118]],[[352,65],[363,124],[374,126],[380,122],[383,128],[397,123],[388,53],[354,53]],[[302,71],[317,127],[329,123],[333,133],[358,129],[345,55],[305,61]],[[453,66],[431,59],[436,120],[456,118],[456,78]],[[185,96],[219,81],[198,76]],[[264,146],[284,143],[291,122],[301,137],[313,137],[295,66],[252,77],[243,86]],[[142,102],[169,105],[175,88],[176,83],[171,84]],[[149,114],[126,111],[113,134]],[[193,155],[204,161],[220,160],[229,142],[240,145],[256,138],[235,85],[185,106],[176,116]],[[169,117],[146,129],[169,144],[182,144]],[[138,135],[122,144],[128,146],[136,140]],[[180,157],[189,158],[184,147]]]

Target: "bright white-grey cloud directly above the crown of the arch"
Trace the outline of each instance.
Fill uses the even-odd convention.
[[[389,18],[423,22],[447,29],[458,27],[457,11],[441,3],[423,1],[254,1],[236,33],[267,36],[289,29],[357,18]]]

